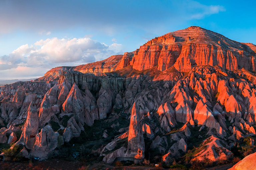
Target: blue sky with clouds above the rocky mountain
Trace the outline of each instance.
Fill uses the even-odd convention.
[[[256,44],[256,1],[1,0],[0,80],[41,77],[200,26]]]

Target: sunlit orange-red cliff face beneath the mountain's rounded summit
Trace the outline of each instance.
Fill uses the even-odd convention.
[[[163,71],[173,66],[182,72],[193,66],[219,65],[224,69],[255,69],[256,46],[232,41],[218,33],[189,27],[150,40],[135,51],[134,57],[123,56],[119,68],[132,65],[136,70],[157,66]]]

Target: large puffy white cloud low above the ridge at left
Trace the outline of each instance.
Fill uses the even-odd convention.
[[[9,55],[0,56],[0,70],[6,70],[1,71],[3,74],[0,78],[10,75],[9,72],[19,72],[18,68],[24,70],[19,75],[32,76],[35,75],[34,72],[27,71],[25,68],[45,70],[63,65],[75,66],[120,53],[123,53],[122,44],[107,45],[89,37],[39,40],[32,45],[21,45]]]

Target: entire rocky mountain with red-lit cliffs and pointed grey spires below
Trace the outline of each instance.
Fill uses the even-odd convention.
[[[255,152],[255,57],[253,44],[192,26],[4,85],[0,147],[15,143],[16,152],[2,159],[74,159],[79,151],[90,163],[236,163]]]

